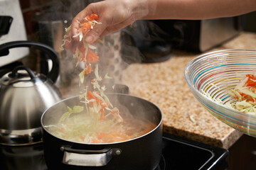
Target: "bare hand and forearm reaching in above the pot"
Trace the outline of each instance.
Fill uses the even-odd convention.
[[[256,0],[105,0],[88,5],[75,16],[71,35],[78,35],[80,23],[91,13],[99,16],[101,24],[86,34],[85,41],[90,44],[137,20],[199,20],[238,16],[255,10]]]

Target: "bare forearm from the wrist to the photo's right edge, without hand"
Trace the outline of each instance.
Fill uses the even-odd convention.
[[[135,3],[138,3],[135,0]],[[208,19],[238,16],[256,10],[256,0],[141,0],[148,8],[138,19]],[[138,8],[138,7],[137,7]],[[143,11],[146,11],[144,9]]]

